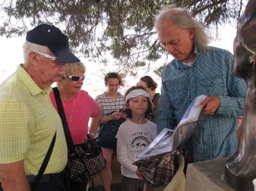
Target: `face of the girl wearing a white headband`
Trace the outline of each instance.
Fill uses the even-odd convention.
[[[149,103],[147,102],[147,97],[137,96],[129,99],[129,106],[132,115],[144,115],[149,108]]]

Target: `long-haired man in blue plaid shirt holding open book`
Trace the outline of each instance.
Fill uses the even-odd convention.
[[[210,37],[186,9],[161,10],[155,23],[159,42],[174,59],[162,73],[158,131],[175,129],[199,95],[204,116],[187,148],[190,161],[228,157],[237,149],[237,117],[242,115],[246,83],[234,77],[233,55],[208,46]]]

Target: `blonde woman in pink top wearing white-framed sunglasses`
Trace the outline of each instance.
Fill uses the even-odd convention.
[[[93,138],[102,118],[102,109],[100,109],[98,103],[86,91],[81,90],[85,79],[84,73],[85,66],[82,62],[66,64],[65,74],[57,82],[74,145],[85,143],[87,133]],[[53,92],[50,93],[50,97],[53,106],[58,110]],[[92,120],[89,128],[90,117],[92,117]],[[70,181],[71,190],[86,190],[86,185],[87,180],[81,182]]]

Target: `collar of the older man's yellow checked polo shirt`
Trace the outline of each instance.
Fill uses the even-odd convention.
[[[37,94],[49,94],[52,90],[51,87],[45,88],[45,90],[41,89],[35,81],[31,78],[31,76],[26,72],[26,70],[22,67],[22,64],[18,66],[17,75],[19,79],[21,79],[24,86],[29,90],[32,96],[36,96]]]

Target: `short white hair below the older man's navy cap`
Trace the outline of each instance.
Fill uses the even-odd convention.
[[[29,60],[29,53],[33,50],[42,53],[48,53],[50,51],[50,49],[47,46],[38,45],[35,43],[30,43],[29,41],[25,41],[25,43],[23,44],[24,63]]]

